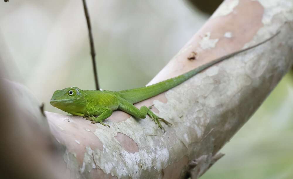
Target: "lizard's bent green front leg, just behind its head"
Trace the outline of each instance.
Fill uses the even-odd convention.
[[[93,110],[93,112],[92,111],[88,112],[88,114],[85,115],[84,118],[92,121],[93,124],[95,124],[96,122],[99,122],[103,126],[110,127],[109,125],[103,123],[103,120],[110,117],[110,115],[112,115],[112,113],[113,113],[113,111],[110,108],[107,108],[107,107],[100,107],[99,108],[97,106],[95,109],[91,109],[91,110]],[[102,113],[98,117],[94,117],[93,114],[96,114],[95,111],[99,111],[99,112],[102,111]]]

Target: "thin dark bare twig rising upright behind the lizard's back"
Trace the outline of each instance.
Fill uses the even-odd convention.
[[[86,15],[86,23],[88,24],[88,37],[90,39],[90,45],[91,45],[91,57],[93,61],[93,73],[95,76],[95,82],[96,82],[96,90],[99,90],[99,83],[98,83],[98,73],[97,73],[97,67],[96,67],[96,52],[95,52],[95,47],[93,44],[93,34],[91,31],[91,22],[90,22],[90,16],[88,15],[88,8],[86,6],[86,0],[82,0],[82,3],[84,4],[84,14]]]

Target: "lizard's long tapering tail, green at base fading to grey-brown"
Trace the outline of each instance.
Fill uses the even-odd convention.
[[[125,100],[127,100],[130,103],[137,103],[139,101],[143,101],[145,99],[151,98],[153,96],[156,96],[160,93],[163,93],[164,91],[167,91],[168,89],[171,89],[177,85],[179,85],[180,83],[183,83],[184,81],[190,79],[192,76],[198,74],[199,72],[207,69],[208,67],[221,62],[225,59],[228,59],[229,57],[232,57],[236,54],[239,54],[241,52],[247,51],[251,48],[257,47],[269,40],[271,40],[273,37],[275,37],[277,34],[279,34],[280,31],[278,31],[275,35],[273,35],[272,37],[264,40],[263,42],[260,42],[256,45],[253,45],[251,47],[247,47],[243,50],[239,50],[236,52],[233,52],[231,54],[225,55],[223,57],[220,57],[218,59],[215,59],[211,62],[208,62],[198,68],[195,68],[193,70],[190,70],[188,72],[186,72],[185,74],[176,76],[174,78],[171,79],[167,79],[165,81],[161,81],[159,83],[150,85],[150,86],[146,86],[146,87],[142,87],[142,88],[135,88],[135,89],[129,89],[129,90],[124,90],[124,91],[117,91],[115,92],[118,96],[120,96],[121,98],[124,98]]]

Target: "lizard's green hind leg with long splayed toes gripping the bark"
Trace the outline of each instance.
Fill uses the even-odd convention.
[[[133,104],[129,103],[128,101],[126,101],[125,99],[120,99],[120,106],[119,109],[127,112],[128,114],[140,118],[140,119],[144,119],[146,118],[147,115],[149,115],[154,122],[165,131],[165,129],[163,128],[163,126],[161,125],[160,120],[162,120],[163,122],[165,122],[166,125],[170,124],[172,125],[170,122],[164,120],[163,118],[155,115],[150,109],[151,106],[148,108],[147,106],[142,106],[140,109],[138,109],[137,107],[135,107]]]

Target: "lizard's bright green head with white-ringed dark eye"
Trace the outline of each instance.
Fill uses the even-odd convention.
[[[65,112],[76,112],[86,106],[86,100],[81,89],[77,87],[64,88],[54,92],[50,104]]]

